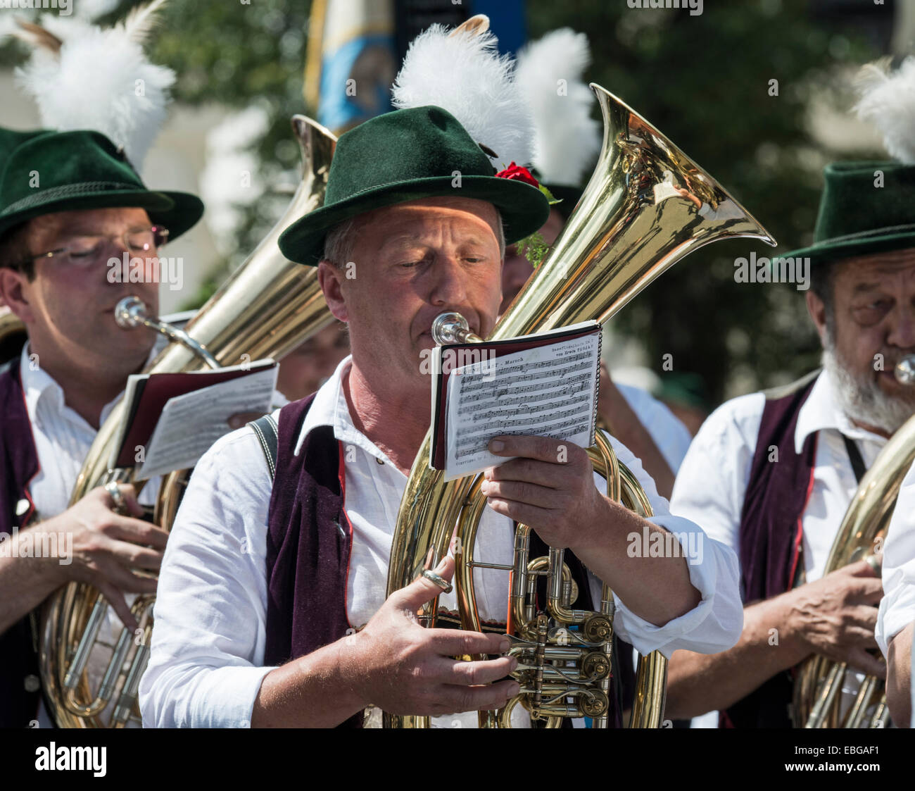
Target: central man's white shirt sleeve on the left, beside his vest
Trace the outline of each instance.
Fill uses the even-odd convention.
[[[199,461],[159,573],[145,727],[246,728],[264,676],[271,480],[250,428]]]

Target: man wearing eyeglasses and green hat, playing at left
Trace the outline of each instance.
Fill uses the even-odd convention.
[[[114,305],[136,295],[157,313],[158,250],[202,211],[193,195],[147,190],[104,135],[0,129],[0,303],[28,334],[0,366],[0,726],[52,724],[29,623],[52,591],[91,583],[135,627],[124,594],[156,590],[136,571],[158,569],[167,534],[139,518],[133,487],[100,487],[71,507],[70,493],[156,342],[119,328]],[[125,253],[145,267],[129,282],[109,276]]]

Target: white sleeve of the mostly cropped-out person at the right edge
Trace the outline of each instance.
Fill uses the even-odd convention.
[[[883,547],[883,599],[877,612],[877,645],[888,645],[915,621],[915,465],[899,487]]]

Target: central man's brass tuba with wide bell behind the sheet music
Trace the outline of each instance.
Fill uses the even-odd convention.
[[[604,120],[595,171],[552,252],[511,303],[490,340],[583,320],[608,320],[655,277],[704,244],[745,236],[774,245],[748,211],[654,126],[600,86],[591,88]],[[458,340],[474,340],[453,325],[450,329],[458,333]],[[598,612],[571,610],[571,586],[563,579],[563,550],[551,548],[548,558],[528,558],[527,526],[519,526],[511,566],[475,558],[474,538],[485,505],[480,477],[444,482],[442,472],[429,468],[429,450],[427,435],[401,501],[388,594],[408,585],[424,569],[435,568],[447,554],[457,526],[462,551],[455,558],[455,586],[462,628],[479,631],[473,569],[501,568],[512,573],[511,653],[519,657],[514,677],[522,689],[506,709],[480,712],[480,726],[508,725],[511,709],[521,704],[547,727],[558,727],[561,718],[583,715],[593,717],[596,727],[608,727],[611,591],[604,586]],[[651,515],[638,482],[618,463],[603,437],[589,455],[607,478],[608,496]],[[530,580],[537,576],[548,580],[545,613],[537,612],[526,595]],[[420,622],[435,625],[436,612],[437,600],[429,602]],[[657,728],[666,684],[666,660],[661,654],[640,657],[637,684],[630,727]],[[427,717],[385,713],[384,721],[386,727],[428,727]]]

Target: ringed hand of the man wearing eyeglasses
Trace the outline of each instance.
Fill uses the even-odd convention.
[[[121,621],[135,629],[138,624],[124,600],[124,591],[156,592],[156,580],[141,577],[134,569],[159,569],[168,533],[136,518],[143,515],[143,509],[136,501],[134,487],[127,483],[118,486],[131,515],[116,514],[111,495],[100,486],[62,514],[42,522],[38,529],[72,534],[72,562],[59,564],[58,558],[59,575],[66,581],[87,582],[98,588]],[[66,545],[59,539],[58,546]]]

